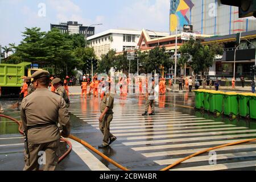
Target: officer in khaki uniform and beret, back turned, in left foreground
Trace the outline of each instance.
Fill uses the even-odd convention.
[[[64,99],[47,89],[49,72],[36,71],[31,78],[34,78],[33,84],[36,90],[25,97],[20,106],[25,134],[23,170],[38,170],[40,158],[43,159],[44,170],[53,171],[59,158],[58,118],[61,118],[60,124],[63,126],[62,135],[67,137],[71,130],[69,113]],[[44,155],[40,156],[42,153]]]

